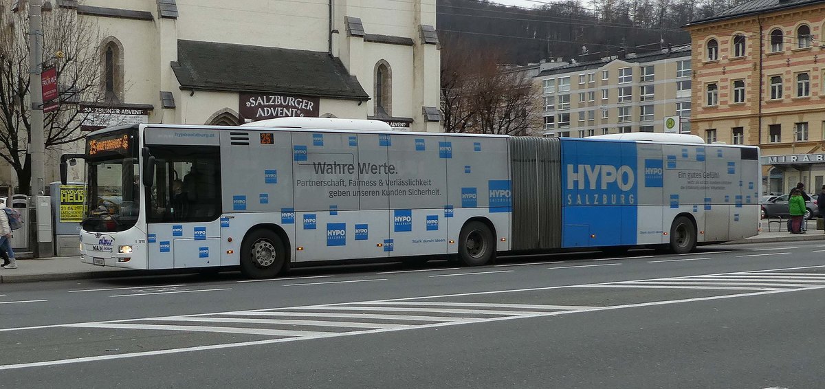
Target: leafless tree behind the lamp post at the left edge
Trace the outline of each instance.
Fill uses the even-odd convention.
[[[14,168],[18,192],[30,193],[31,99],[29,78],[28,8],[13,10],[14,0],[0,0],[0,158]],[[21,2],[25,5],[25,2]],[[45,114],[45,148],[51,149],[82,138],[85,114],[80,101],[103,100],[100,34],[92,18],[76,10],[54,7],[43,12],[43,53],[40,59],[57,70],[57,109]],[[56,53],[61,52],[63,58]]]

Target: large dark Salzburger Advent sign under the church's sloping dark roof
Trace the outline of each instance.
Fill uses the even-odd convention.
[[[317,118],[320,102],[319,97],[241,93],[238,113],[244,123],[287,117]]]

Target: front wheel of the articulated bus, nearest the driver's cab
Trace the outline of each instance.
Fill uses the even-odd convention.
[[[281,237],[267,229],[252,231],[241,246],[241,273],[251,279],[268,279],[286,268],[286,250]]]

